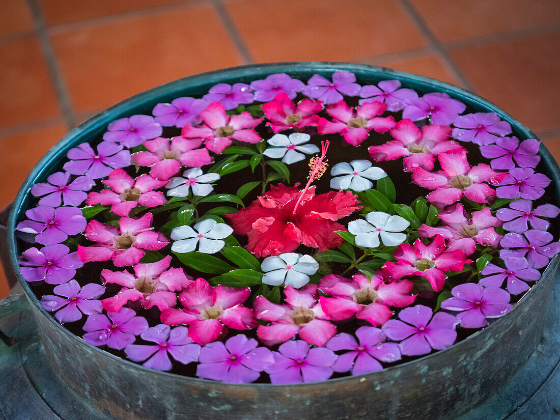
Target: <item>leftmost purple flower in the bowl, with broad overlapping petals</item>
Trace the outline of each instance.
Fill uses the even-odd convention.
[[[17,224],[16,230],[38,234],[35,241],[43,245],[59,244],[68,235],[77,235],[86,228],[87,221],[77,207],[39,206],[25,212],[30,220]]]

